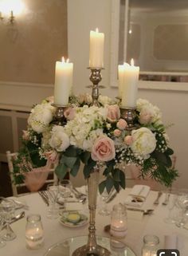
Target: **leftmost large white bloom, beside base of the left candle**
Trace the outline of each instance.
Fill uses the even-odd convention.
[[[29,115],[28,124],[37,133],[45,132],[53,120],[55,108],[50,103],[37,104]]]

